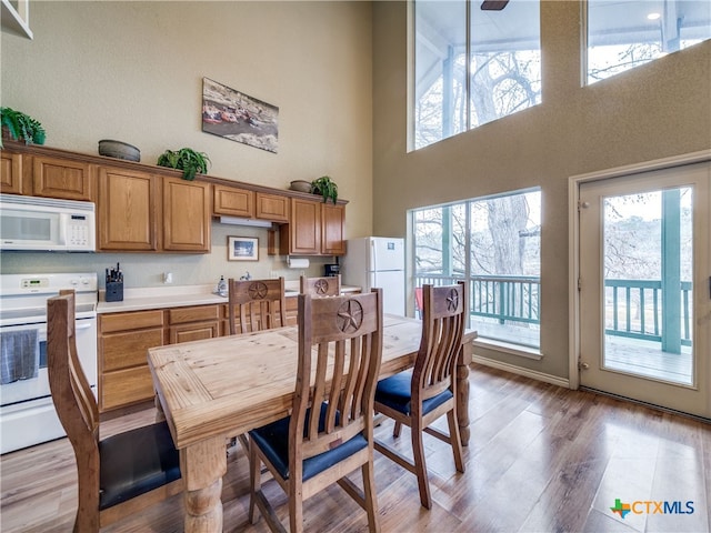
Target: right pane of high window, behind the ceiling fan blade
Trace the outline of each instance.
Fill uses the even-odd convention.
[[[471,127],[541,103],[540,3],[471,10]]]

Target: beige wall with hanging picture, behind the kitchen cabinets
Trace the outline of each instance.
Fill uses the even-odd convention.
[[[0,101],[42,122],[47,145],[97,153],[118,139],[152,164],[166,149],[207,152],[210,174],[287,189],[329,174],[349,200],[347,237],[372,231],[369,2],[31,2],[33,40],[2,33]],[[202,78],[279,107],[277,154],[201,131]],[[227,235],[260,237],[260,262],[227,262]],[[120,260],[127,285],[212,282],[286,270],[267,232],[213,225],[213,253],[6,252],[0,271],[103,269]],[[321,272],[312,262],[311,273]]]

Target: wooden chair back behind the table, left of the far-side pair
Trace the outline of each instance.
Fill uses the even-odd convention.
[[[228,281],[230,334],[287,325],[284,279]]]

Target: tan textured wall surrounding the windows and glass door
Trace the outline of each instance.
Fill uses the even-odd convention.
[[[580,4],[541,6],[542,103],[407,153],[407,4],[373,7],[373,229],[404,235],[408,209],[540,187],[542,361],[568,375],[568,179],[711,148],[711,41],[581,88]]]

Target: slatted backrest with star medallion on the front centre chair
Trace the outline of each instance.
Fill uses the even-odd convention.
[[[359,432],[367,431],[372,439],[381,358],[380,289],[351,296],[299,295],[299,366],[290,440],[300,460],[323,453]],[[324,402],[326,416],[319,426]]]

